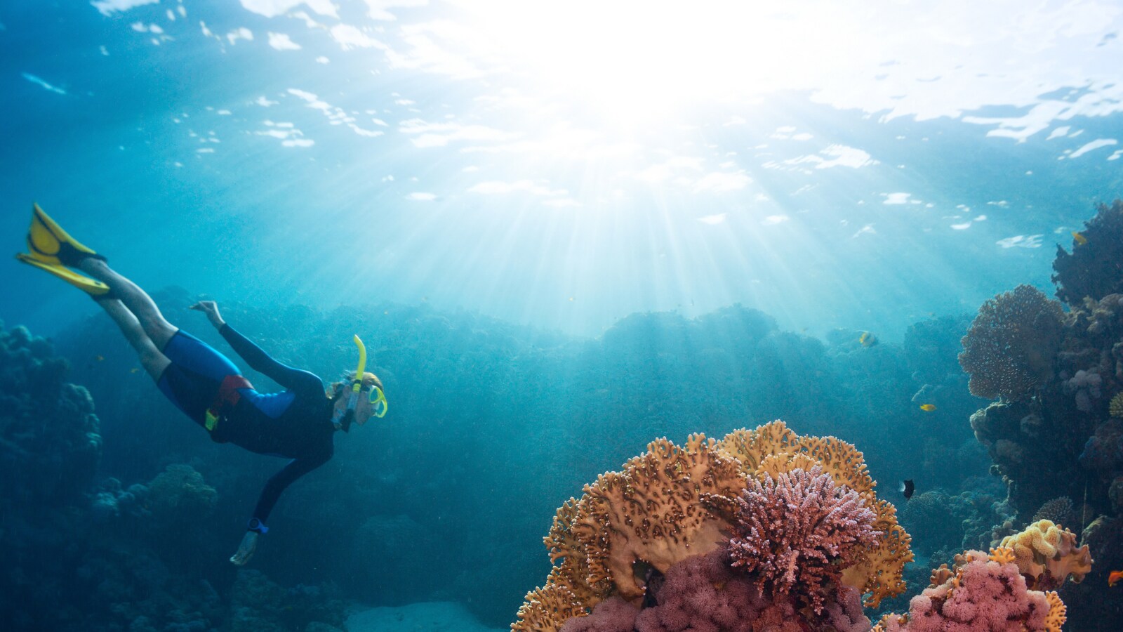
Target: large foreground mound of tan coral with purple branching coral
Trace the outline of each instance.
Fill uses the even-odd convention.
[[[722,531],[733,535],[723,541]],[[599,604],[623,599],[634,608],[652,597],[658,605],[637,616],[638,629],[756,630],[755,620],[796,625],[793,617],[816,630],[828,629],[824,620],[862,629],[859,590],[870,593],[867,603],[900,593],[911,559],[861,452],[834,437],[800,436],[783,422],[720,442],[700,434],[683,448],[651,442],[566,502],[545,543],[560,563],[527,595],[517,632],[614,630],[630,611]],[[716,580],[716,588],[714,578],[727,576],[739,580]],[[583,622],[591,611],[595,619]]]

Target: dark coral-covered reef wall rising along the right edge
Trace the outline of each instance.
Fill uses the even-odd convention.
[[[994,534],[1005,541],[1034,540],[1014,548],[1023,566],[1035,556],[1033,565],[1047,571],[1041,579],[1046,587],[1059,585],[1069,572],[1049,568],[1058,563],[1051,556],[1072,563],[1076,578],[1088,572],[1090,558],[1110,559],[1110,540],[1088,536],[1103,533],[1123,512],[1123,201],[1099,205],[1081,236],[1071,253],[1058,247],[1053,262],[1057,297],[1068,313],[1058,318],[1056,305],[1035,290],[1019,288],[1024,303],[1037,307],[1007,314],[1006,322],[1016,326],[986,329],[1002,333],[992,342],[1004,346],[980,347],[993,352],[987,354],[993,362],[964,362],[973,390],[978,382],[986,387],[978,394],[1003,399],[971,416],[976,437],[995,463],[994,473],[1007,486],[1006,503],[1014,513]],[[987,301],[976,323],[994,320],[1001,315],[998,305],[1013,294]],[[1043,328],[1026,329],[1026,315]],[[1039,340],[1037,352],[1026,351],[1030,338]],[[969,359],[974,342],[970,334],[964,338],[961,360]],[[1003,361],[1019,369],[1019,388],[998,388],[1008,380]],[[1059,497],[1070,498],[1071,509],[1063,502],[1050,505]],[[1039,518],[1083,530],[1085,547],[1077,548],[1071,533],[1060,535],[1060,527],[1050,535],[1048,527],[1038,527]],[[1035,534],[1017,533],[1031,522]],[[1119,628],[1123,612],[1106,606],[1086,584],[1067,583],[1059,592],[1085,621],[1112,621]]]

